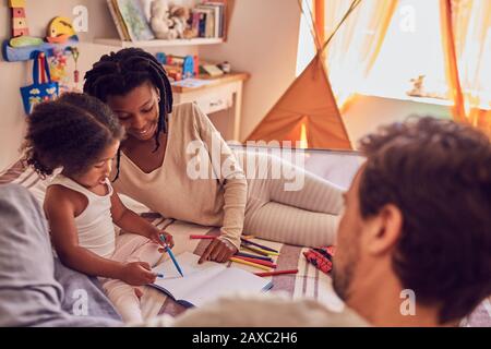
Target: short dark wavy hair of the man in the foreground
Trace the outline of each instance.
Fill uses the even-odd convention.
[[[386,204],[403,214],[393,268],[442,324],[491,294],[491,144],[480,131],[417,118],[360,141],[363,218]]]

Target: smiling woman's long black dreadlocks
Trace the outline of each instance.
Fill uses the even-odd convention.
[[[167,132],[167,119],[172,112],[172,87],[164,67],[148,52],[140,48],[127,48],[105,55],[85,74],[84,92],[107,103],[109,96],[124,96],[134,88],[151,83],[160,93],[158,131],[155,134],[156,151],[160,147],[159,135]],[[119,177],[121,151],[118,152]]]

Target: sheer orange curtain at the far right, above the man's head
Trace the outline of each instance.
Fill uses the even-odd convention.
[[[440,0],[454,119],[491,136],[491,1]]]

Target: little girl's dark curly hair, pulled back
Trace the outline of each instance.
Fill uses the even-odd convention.
[[[124,129],[107,105],[88,95],[68,93],[34,108],[27,119],[24,161],[41,177],[60,167],[81,173],[123,136]]]

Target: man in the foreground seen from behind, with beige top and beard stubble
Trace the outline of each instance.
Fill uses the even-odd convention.
[[[491,144],[432,118],[361,140],[367,163],[345,194],[333,286],[374,326],[458,325],[491,294]],[[238,315],[239,314],[239,315]],[[164,322],[163,318],[157,320]],[[313,301],[223,299],[175,326],[366,325]]]

